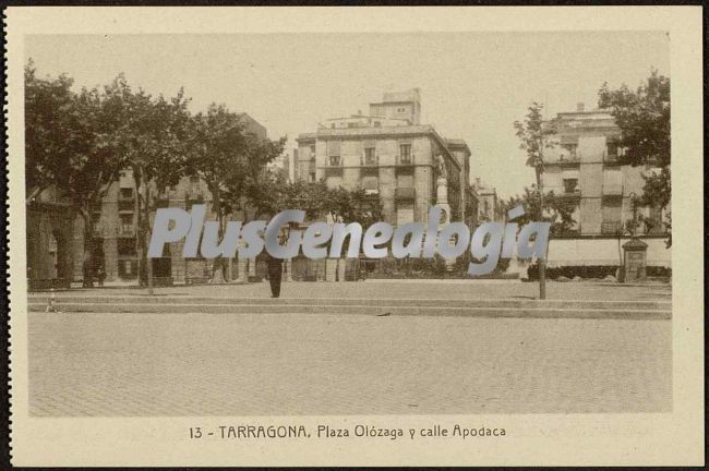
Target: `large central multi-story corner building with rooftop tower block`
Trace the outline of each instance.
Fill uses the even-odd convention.
[[[329,119],[315,132],[300,134],[295,178],[362,188],[380,198],[384,220],[396,226],[426,221],[443,177],[449,219],[467,220],[473,196],[470,149],[465,141],[446,140],[420,120],[418,88],[386,93],[381,102],[370,105],[369,114]]]

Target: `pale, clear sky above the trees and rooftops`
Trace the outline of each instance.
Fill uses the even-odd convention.
[[[39,75],[75,87],[124,73],[152,94],[184,87],[197,112],[211,102],[245,111],[271,138],[314,132],[328,118],[369,111],[384,92],[421,89],[421,122],[472,152],[472,178],[503,197],[533,181],[513,122],[532,101],[545,117],[592,109],[598,89],[636,87],[651,68],[670,74],[662,32],[41,35],[26,36]]]

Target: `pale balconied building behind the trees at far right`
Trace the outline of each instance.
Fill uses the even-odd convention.
[[[648,265],[669,266],[664,247],[664,214],[640,207],[644,174],[660,169],[651,165],[621,165],[621,130],[605,110],[561,112],[544,123],[551,131],[544,147],[545,192],[573,208],[575,224],[550,244],[550,264],[604,265],[618,263],[618,237],[628,220],[642,220],[636,234],[649,244]],[[654,224],[653,224],[654,222]]]

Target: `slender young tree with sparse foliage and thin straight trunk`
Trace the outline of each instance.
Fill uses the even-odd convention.
[[[525,150],[527,155],[526,165],[534,169],[534,177],[537,180],[537,194],[539,205],[537,207],[536,217],[538,220],[543,218],[544,204],[544,186],[542,174],[544,172],[544,146],[545,135],[551,133],[551,129],[544,128],[542,117],[543,106],[537,101],[532,102],[527,108],[527,116],[524,121],[515,121],[514,126],[516,135],[520,141],[519,148]],[[539,259],[539,298],[546,298],[546,261]]]

